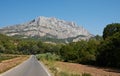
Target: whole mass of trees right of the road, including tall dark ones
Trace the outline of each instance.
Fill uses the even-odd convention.
[[[108,24],[103,38],[64,45],[60,55],[64,61],[120,68],[120,24]]]

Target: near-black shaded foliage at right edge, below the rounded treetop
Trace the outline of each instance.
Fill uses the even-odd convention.
[[[101,66],[120,68],[120,32],[101,43],[97,63]]]

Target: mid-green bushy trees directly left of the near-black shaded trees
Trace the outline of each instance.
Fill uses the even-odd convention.
[[[93,64],[99,43],[94,39],[70,43],[60,49],[60,55],[64,61]]]

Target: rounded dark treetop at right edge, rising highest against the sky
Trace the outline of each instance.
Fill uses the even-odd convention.
[[[103,38],[106,39],[109,36],[112,36],[116,32],[120,32],[120,23],[108,24],[103,31]]]

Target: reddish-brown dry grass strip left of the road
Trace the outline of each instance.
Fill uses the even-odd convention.
[[[23,61],[25,61],[26,59],[28,59],[28,57],[29,56],[18,56],[13,59],[2,61],[0,63],[0,73],[3,73],[12,67],[15,67],[16,65],[18,65],[18,64],[22,63]]]

